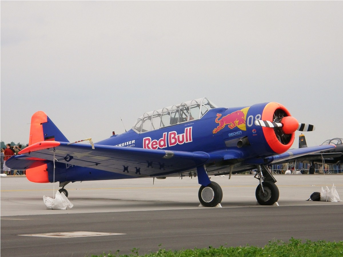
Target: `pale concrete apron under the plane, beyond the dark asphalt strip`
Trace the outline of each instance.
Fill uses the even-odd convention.
[[[321,187],[331,189],[332,183],[343,199],[343,174],[291,174],[274,175],[280,191],[280,206],[325,205],[305,201]],[[260,206],[255,197],[258,180],[253,175],[212,177],[223,189],[222,207]],[[68,199],[74,205],[71,210],[46,210],[43,196],[54,198],[60,188],[58,183],[32,183],[25,176],[1,178],[0,216],[42,215],[57,213],[89,213],[137,210],[194,209],[199,206],[197,179],[188,177],[124,179],[108,181],[84,181],[69,183]]]

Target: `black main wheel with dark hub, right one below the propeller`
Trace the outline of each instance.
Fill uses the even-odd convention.
[[[260,205],[273,205],[279,200],[279,188],[271,181],[262,182],[264,194],[261,190],[260,185],[256,188],[256,199]]]

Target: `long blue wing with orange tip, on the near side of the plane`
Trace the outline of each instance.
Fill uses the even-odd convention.
[[[151,150],[143,148],[68,144],[67,142],[43,141],[26,147],[19,156],[10,158],[6,164],[13,169],[27,169],[54,160],[70,165],[89,167],[109,172],[130,171],[135,176],[163,176],[193,169],[208,162],[205,152]],[[132,172],[131,172],[132,171]],[[138,175],[137,175],[138,176]]]

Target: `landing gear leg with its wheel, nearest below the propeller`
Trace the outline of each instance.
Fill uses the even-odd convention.
[[[264,165],[257,165],[255,178],[260,181],[255,193],[258,203],[260,205],[273,205],[280,195],[279,188],[275,185],[275,178]]]

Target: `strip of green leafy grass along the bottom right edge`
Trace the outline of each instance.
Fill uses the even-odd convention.
[[[306,240],[306,243],[301,243],[301,239],[291,238],[288,243],[284,243],[280,240],[275,242],[269,241],[268,245],[264,247],[256,246],[244,246],[244,247],[224,247],[220,246],[218,248],[194,248],[194,250],[180,250],[171,251],[165,249],[159,249],[157,253],[150,253],[145,255],[139,255],[138,248],[133,248],[132,253],[129,255],[119,255],[119,250],[115,254],[105,254],[103,255],[92,255],[92,257],[207,257],[207,256],[343,256],[343,241],[336,242],[325,242],[317,241],[311,242]]]

